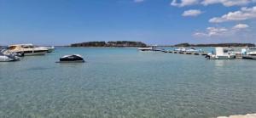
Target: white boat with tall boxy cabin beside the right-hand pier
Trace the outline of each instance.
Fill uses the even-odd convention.
[[[226,48],[215,48],[215,54],[209,53],[206,58],[208,59],[235,59],[236,54],[227,52]]]

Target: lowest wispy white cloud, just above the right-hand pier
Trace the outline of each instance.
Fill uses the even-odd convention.
[[[225,37],[236,35],[237,31],[245,30],[249,26],[246,24],[238,24],[228,29],[225,27],[208,27],[207,31],[195,32],[194,37]]]

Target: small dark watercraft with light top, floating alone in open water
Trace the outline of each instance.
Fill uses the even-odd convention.
[[[57,63],[84,63],[84,59],[79,54],[65,55]]]

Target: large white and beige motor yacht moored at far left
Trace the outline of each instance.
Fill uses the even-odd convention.
[[[48,52],[47,48],[44,47],[35,47],[32,44],[16,44],[10,45],[9,49],[4,52],[6,53],[24,53],[25,56],[30,55],[44,55]]]

